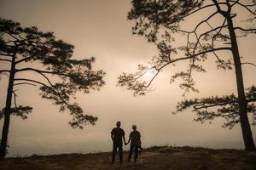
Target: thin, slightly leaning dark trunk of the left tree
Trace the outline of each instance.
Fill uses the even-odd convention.
[[[4,120],[3,120],[3,131],[2,131],[2,139],[0,146],[0,158],[3,158],[7,154],[7,144],[8,144],[8,133],[9,133],[9,121],[10,121],[10,109],[12,104],[12,94],[14,88],[14,80],[15,80],[15,55],[13,55],[11,70],[9,73],[9,85],[6,97],[6,104],[4,108]]]

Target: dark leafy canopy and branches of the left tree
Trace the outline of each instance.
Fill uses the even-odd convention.
[[[74,46],[57,40],[54,32],[39,31],[37,27],[21,27],[20,23],[0,19],[0,61],[15,65],[14,107],[11,113],[26,118],[32,111],[30,106],[16,104],[15,89],[20,85],[37,86],[43,99],[49,99],[60,106],[60,111],[69,111],[72,127],[82,128],[84,124],[95,124],[97,117],[84,115],[78,103],[73,103],[79,91],[85,94],[90,89],[99,90],[105,84],[105,72],[94,71],[94,57],[74,59]],[[41,78],[27,78],[24,73],[32,72]],[[10,73],[11,69],[0,70],[0,74]],[[3,117],[4,108],[0,111]]]

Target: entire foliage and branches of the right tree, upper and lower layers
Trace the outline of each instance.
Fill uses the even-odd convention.
[[[188,63],[184,71],[172,75],[170,82],[181,78],[179,85],[185,94],[189,91],[199,92],[195,87],[193,74],[206,72],[203,62],[215,58],[218,69],[233,69],[236,63],[230,54],[233,52],[234,37],[230,30],[235,31],[235,38],[244,38],[256,33],[253,27],[256,19],[255,1],[216,1],[216,0],[133,0],[128,20],[134,21],[132,33],[145,37],[154,43],[159,54],[154,56],[147,65],[138,65],[135,73],[123,73],[118,78],[118,86],[132,90],[135,95],[145,95],[151,91],[152,82],[160,71],[178,62]],[[239,26],[230,29],[230,20],[239,20]],[[192,20],[193,21],[192,21]],[[186,23],[190,23],[188,27]],[[183,44],[176,42],[180,37]],[[246,56],[244,57],[246,59]],[[245,60],[243,59],[243,60]],[[241,61],[238,65],[253,65]],[[148,71],[153,73],[150,80],[145,81],[143,75]],[[247,90],[247,111],[253,115],[255,124],[255,87]],[[196,112],[195,121],[212,121],[216,117],[224,117],[224,127],[234,127],[239,120],[239,99],[235,94],[212,96],[205,99],[184,99],[177,105],[177,111],[192,107]],[[209,110],[209,108],[217,108]],[[208,109],[208,110],[207,110]],[[173,111],[173,113],[177,113]]]

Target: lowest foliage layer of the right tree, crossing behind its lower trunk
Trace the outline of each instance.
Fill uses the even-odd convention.
[[[256,87],[252,86],[247,88],[247,112],[252,114],[252,124],[256,125],[256,105],[253,103],[256,99]],[[211,96],[202,99],[184,99],[178,102],[177,110],[173,111],[174,114],[182,112],[189,107],[195,111],[195,122],[212,122],[217,117],[223,117],[225,122],[222,127],[234,127],[239,119],[239,102],[235,94],[224,96]],[[210,111],[209,111],[210,110]]]

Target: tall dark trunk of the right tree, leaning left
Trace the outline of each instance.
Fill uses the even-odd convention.
[[[233,21],[230,14],[229,16],[226,17],[226,19],[228,22],[228,28],[230,32],[231,48],[232,48],[232,54],[233,54],[235,70],[236,70],[236,86],[237,86],[237,93],[238,93],[238,99],[239,99],[239,114],[240,114],[242,138],[243,138],[246,150],[255,150],[253,134],[252,134],[252,130],[250,127],[250,123],[248,121],[248,116],[247,116],[247,100],[246,100],[244,86],[243,86],[241,59],[240,59],[240,54],[239,54],[238,45],[236,41],[236,32],[234,30]]]

